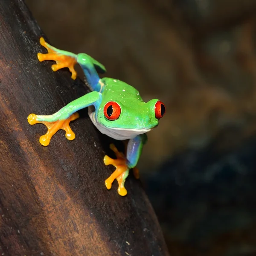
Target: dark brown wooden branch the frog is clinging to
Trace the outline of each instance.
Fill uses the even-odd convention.
[[[0,253],[169,255],[140,181],[128,177],[125,197],[116,182],[106,189],[109,139],[87,111],[71,124],[75,140],[59,131],[48,147],[39,144],[46,128],[27,116],[54,113],[88,90],[38,61],[46,36],[22,0],[0,1],[0,13]]]

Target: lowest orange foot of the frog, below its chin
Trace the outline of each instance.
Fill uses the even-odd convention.
[[[113,165],[116,170],[105,180],[105,185],[107,189],[111,189],[113,181],[116,179],[118,182],[117,192],[119,195],[127,195],[127,190],[125,189],[125,179],[129,174],[129,167],[126,165],[126,157],[122,152],[119,152],[114,144],[110,145],[111,150],[116,154],[117,159],[112,159],[105,156],[103,161],[105,165]],[[139,178],[139,170],[134,168],[134,176]]]

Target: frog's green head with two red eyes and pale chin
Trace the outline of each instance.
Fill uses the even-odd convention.
[[[99,124],[108,130],[102,131],[103,133],[115,139],[125,140],[157,127],[164,114],[165,105],[158,99],[147,103],[126,99],[122,102],[102,102],[97,116]]]

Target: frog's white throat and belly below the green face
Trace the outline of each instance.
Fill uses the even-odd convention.
[[[109,137],[115,140],[128,140],[133,139],[139,134],[144,134],[151,129],[123,129],[123,128],[107,128],[106,126],[100,124],[95,118],[95,111],[92,111],[93,108],[88,108],[88,114],[93,124],[97,127],[97,129],[102,133],[106,134]]]

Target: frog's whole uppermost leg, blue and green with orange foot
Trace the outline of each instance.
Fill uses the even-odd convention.
[[[96,90],[98,92],[102,92],[104,84],[99,78],[99,73],[105,73],[105,67],[96,61],[94,58],[90,57],[85,53],[75,54],[72,52],[67,52],[64,50],[57,49],[50,44],[48,44],[44,38],[40,38],[40,44],[45,47],[48,53],[38,53],[39,61],[52,60],[56,61],[56,64],[52,65],[52,70],[57,71],[61,68],[67,67],[69,68],[72,79],[76,79],[77,73],[74,69],[74,65],[78,63],[84,71],[84,75],[86,76],[87,82],[91,87],[91,90]]]

